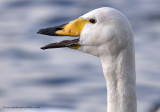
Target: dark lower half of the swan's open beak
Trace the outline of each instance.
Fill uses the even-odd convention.
[[[45,49],[61,48],[61,47],[77,47],[78,42],[79,42],[79,39],[63,40],[61,42],[56,42],[56,43],[45,45],[44,47],[41,47],[41,49],[45,50]]]

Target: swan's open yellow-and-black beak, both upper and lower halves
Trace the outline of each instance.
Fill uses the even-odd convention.
[[[80,39],[81,31],[84,25],[88,22],[89,22],[88,20],[85,20],[83,18],[78,18],[74,21],[69,22],[68,24],[62,24],[55,27],[40,29],[37,33],[49,36],[73,36],[73,37],[79,36]],[[61,42],[51,43],[42,47],[41,49],[45,50],[50,48],[61,48],[61,47],[78,49],[80,47],[79,39],[64,40]]]

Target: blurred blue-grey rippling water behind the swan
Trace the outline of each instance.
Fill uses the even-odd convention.
[[[72,38],[36,34],[99,7],[120,10],[133,27],[138,112],[160,102],[159,0],[0,0],[0,111],[106,111],[100,60],[68,48],[43,51],[45,44]]]

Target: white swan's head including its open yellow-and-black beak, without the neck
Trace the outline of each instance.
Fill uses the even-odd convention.
[[[67,24],[40,29],[38,33],[79,37],[52,43],[42,49],[69,47],[98,57],[116,55],[133,44],[128,20],[120,11],[109,7],[95,9]]]

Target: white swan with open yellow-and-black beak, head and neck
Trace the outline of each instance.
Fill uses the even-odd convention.
[[[107,112],[137,112],[134,39],[124,14],[102,7],[67,24],[42,28],[37,33],[79,37],[41,49],[69,47],[99,57],[106,79]]]

